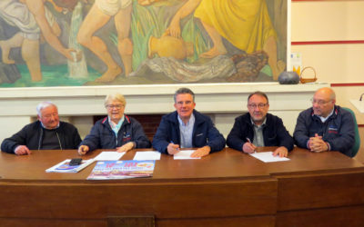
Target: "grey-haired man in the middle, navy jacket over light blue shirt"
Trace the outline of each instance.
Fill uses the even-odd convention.
[[[211,119],[195,110],[195,94],[180,88],[174,95],[177,111],[164,115],[153,138],[153,147],[160,153],[175,154],[179,148],[198,148],[191,157],[202,157],[221,151],[224,136]]]

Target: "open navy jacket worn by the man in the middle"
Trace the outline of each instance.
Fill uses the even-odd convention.
[[[225,147],[225,138],[218,132],[211,119],[204,114],[200,114],[196,110],[195,124],[192,132],[192,145],[199,148],[208,145],[211,147],[210,153],[221,151]],[[160,153],[167,153],[169,143],[180,144],[179,122],[177,119],[177,111],[164,115],[157,133],[153,137],[153,147]]]

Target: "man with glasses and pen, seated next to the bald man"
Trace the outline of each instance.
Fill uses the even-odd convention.
[[[282,120],[268,114],[268,96],[255,92],[248,96],[248,113],[238,116],[227,135],[227,146],[245,153],[254,153],[257,146],[278,146],[273,155],[287,157],[293,149],[293,138]]]

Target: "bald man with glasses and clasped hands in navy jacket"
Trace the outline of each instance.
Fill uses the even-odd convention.
[[[351,155],[355,143],[354,119],[335,103],[336,95],[331,88],[316,91],[312,107],[298,115],[293,137],[299,147],[316,153],[339,151]]]

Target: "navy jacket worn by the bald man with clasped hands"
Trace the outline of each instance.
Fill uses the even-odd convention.
[[[293,137],[299,147],[308,148],[309,137],[315,133],[322,136],[323,141],[329,143],[330,151],[339,151],[351,156],[350,149],[355,143],[355,125],[352,115],[335,105],[334,113],[322,123],[319,116],[313,114],[313,109],[308,108],[298,115]]]

